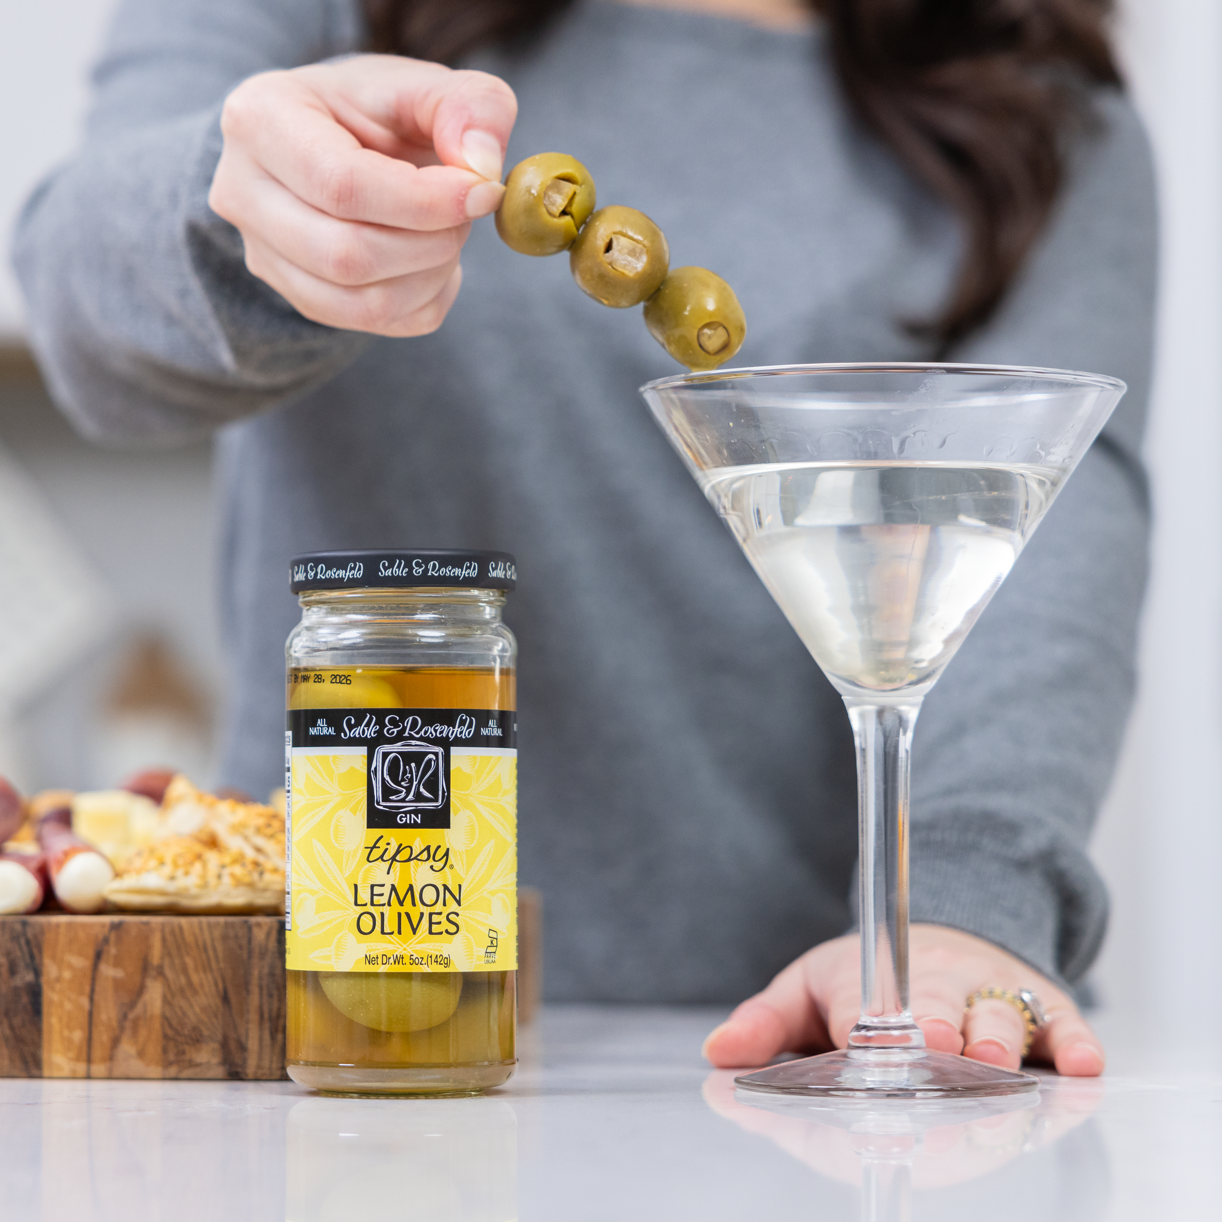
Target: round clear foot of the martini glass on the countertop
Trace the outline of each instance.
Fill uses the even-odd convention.
[[[825,1052],[743,1074],[734,1085],[770,1095],[824,1099],[974,1099],[1036,1091],[1040,1081],[982,1061],[923,1048],[897,1057]]]

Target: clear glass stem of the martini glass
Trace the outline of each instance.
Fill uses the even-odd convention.
[[[925,1046],[908,1008],[908,781],[920,701],[846,697],[857,743],[862,1017],[848,1046],[884,1059]]]

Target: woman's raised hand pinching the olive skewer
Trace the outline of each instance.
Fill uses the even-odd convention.
[[[395,55],[264,72],[225,101],[208,202],[306,318],[426,335],[458,293],[470,221],[501,202],[516,116],[503,81]]]

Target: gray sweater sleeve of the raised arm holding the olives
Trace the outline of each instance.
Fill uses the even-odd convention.
[[[354,49],[346,0],[123,0],[83,147],[39,186],[13,262],[53,395],[88,436],[188,441],[334,376],[368,336],[310,323],[208,207],[246,77]]]

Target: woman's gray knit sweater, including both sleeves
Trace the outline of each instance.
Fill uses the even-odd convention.
[[[282,766],[292,554],[514,552],[521,877],[545,896],[549,996],[738,1000],[852,923],[844,709],[646,414],[637,387],[675,367],[638,312],[489,221],[424,338],[318,326],[246,271],[207,204],[221,99],[359,39],[349,0],[126,0],[84,147],[17,233],[48,379],[108,444],[216,434],[225,778],[254,792]],[[736,364],[929,356],[899,320],[943,301],[957,226],[854,123],[818,32],[588,0],[472,66],[517,90],[510,164],[577,154],[601,203],[734,285]],[[1068,980],[1106,923],[1086,840],[1132,698],[1149,518],[1150,156],[1123,97],[1097,110],[1037,252],[954,356],[1129,393],[929,697],[912,807],[913,918]]]

